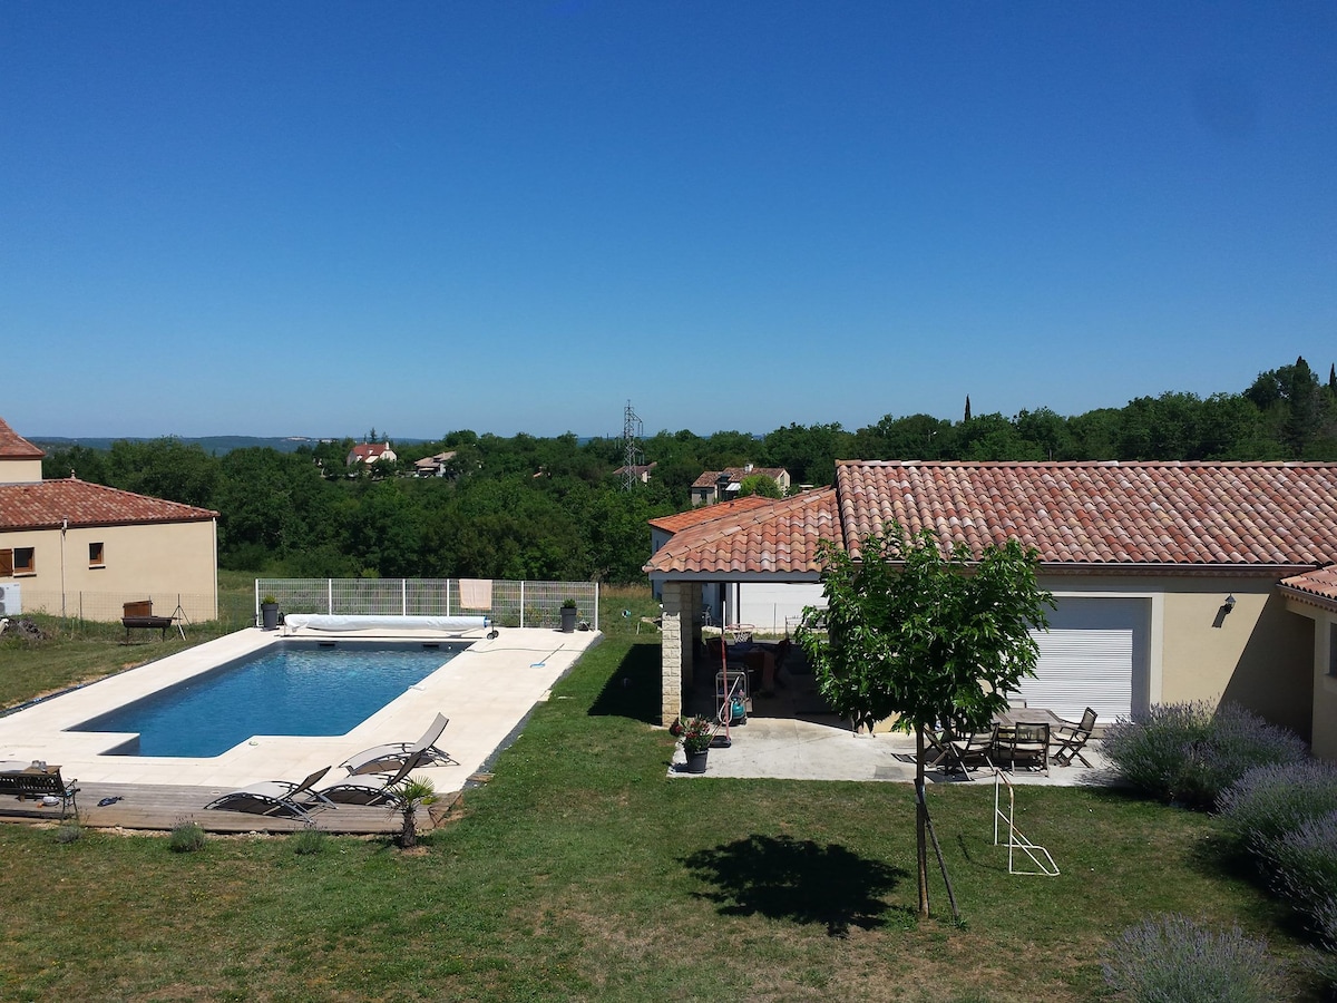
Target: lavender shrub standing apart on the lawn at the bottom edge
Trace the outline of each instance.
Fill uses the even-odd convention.
[[[1262,1003],[1275,999],[1267,944],[1234,927],[1213,933],[1183,916],[1130,927],[1107,952],[1106,983],[1134,1003]]]

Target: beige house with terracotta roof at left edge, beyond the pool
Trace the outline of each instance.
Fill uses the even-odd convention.
[[[115,621],[122,603],[218,617],[218,512],[41,479],[44,453],[0,421],[0,587],[20,611]]]

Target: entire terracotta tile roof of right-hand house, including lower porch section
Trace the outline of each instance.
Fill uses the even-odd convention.
[[[817,540],[858,556],[858,542],[890,520],[973,555],[1016,538],[1051,567],[1298,570],[1337,559],[1337,464],[1321,463],[848,460],[834,488],[713,508],[646,570],[810,571]]]

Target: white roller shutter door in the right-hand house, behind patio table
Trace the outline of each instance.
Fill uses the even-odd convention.
[[[1035,631],[1040,659],[1021,682],[1028,706],[1076,721],[1087,707],[1102,722],[1144,709],[1150,599],[1059,596],[1048,633]]]

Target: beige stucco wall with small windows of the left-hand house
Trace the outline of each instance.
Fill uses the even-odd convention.
[[[88,563],[91,543],[103,544],[102,567]],[[123,602],[152,599],[155,614],[171,615],[179,596],[191,621],[218,617],[213,520],[0,532],[9,547],[33,548],[36,574],[0,579],[19,583],[24,610],[115,621]]]

